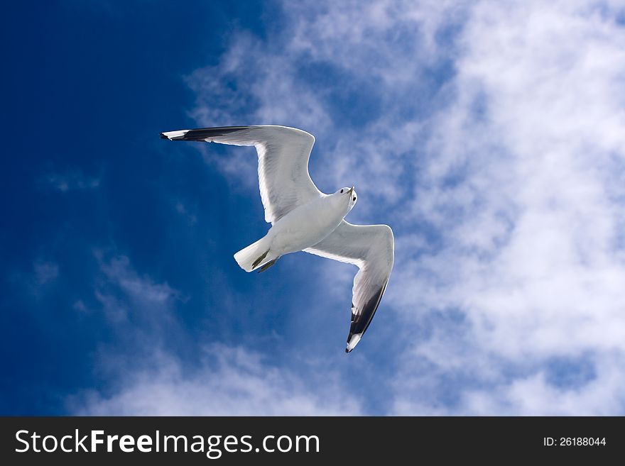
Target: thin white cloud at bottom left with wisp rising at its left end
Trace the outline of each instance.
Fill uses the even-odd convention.
[[[108,383],[79,392],[67,408],[80,415],[348,415],[361,402],[339,383],[336,372],[317,374],[317,362],[300,361],[300,372],[272,365],[244,347],[212,344],[200,362],[176,356],[169,340],[180,335],[175,303],[180,292],[140,274],[125,255],[95,253],[100,274],[94,296],[121,341],[99,345],[94,372]],[[77,301],[78,312],[93,312]],[[175,346],[175,345],[174,345]],[[133,348],[129,352],[129,348]]]

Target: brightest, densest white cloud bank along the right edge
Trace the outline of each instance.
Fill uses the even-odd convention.
[[[625,355],[625,218],[623,184],[615,184],[624,176],[624,39],[606,10],[570,2],[482,3],[464,26],[458,97],[437,116],[428,151],[439,160],[414,204],[444,246],[396,277],[425,279],[398,299],[404,306],[456,308],[467,318],[464,338],[447,348],[445,333],[415,345],[415,358],[442,371],[440,383],[471,373],[485,385],[457,390],[460,411],[625,409],[616,377]],[[446,186],[459,163],[461,182]],[[587,351],[600,367],[587,387],[543,376],[550,357]],[[445,370],[450,353],[456,368]],[[406,365],[406,377],[415,367]],[[398,410],[411,409],[424,406],[399,396]]]

